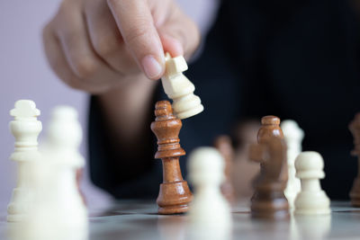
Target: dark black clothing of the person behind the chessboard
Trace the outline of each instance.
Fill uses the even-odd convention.
[[[184,73],[205,107],[183,121],[185,151],[231,135],[240,120],[270,114],[293,119],[305,131],[303,150],[324,157],[323,189],[332,199],[347,199],[356,176],[347,125],[360,111],[357,16],[344,0],[224,0],[201,57]],[[165,99],[159,85],[156,100]],[[146,173],[119,177],[112,167],[119,159],[106,148],[109,140],[94,98],[89,123],[94,183],[117,198],[156,197],[161,161],[148,156]],[[155,153],[155,139],[152,144]],[[185,175],[185,157],[180,163]]]

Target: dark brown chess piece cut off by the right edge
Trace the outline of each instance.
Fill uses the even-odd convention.
[[[349,124],[349,129],[354,136],[354,150],[351,155],[357,156],[357,176],[350,191],[351,204],[354,207],[360,207],[360,112],[356,114],[355,119]]]

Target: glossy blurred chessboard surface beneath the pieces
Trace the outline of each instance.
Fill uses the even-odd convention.
[[[155,200],[122,200],[112,208],[90,210],[89,227],[73,240],[118,239],[358,239],[360,209],[349,202],[331,203],[329,216],[291,217],[288,220],[258,220],[251,218],[248,202],[232,208],[233,227],[229,233],[214,233],[220,229],[190,231],[186,214],[158,215]],[[3,215],[4,216],[4,215]],[[71,216],[69,216],[71,218]],[[14,240],[2,218],[0,238]],[[218,234],[218,235],[216,235]],[[215,238],[215,236],[223,238]],[[212,236],[212,237],[211,237]],[[40,238],[39,238],[40,239]],[[58,238],[54,238],[58,239]],[[26,240],[26,238],[23,238]]]

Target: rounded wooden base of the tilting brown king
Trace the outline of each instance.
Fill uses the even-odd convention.
[[[193,195],[186,181],[162,183],[157,197],[157,212],[159,214],[187,212],[188,204],[192,199]]]

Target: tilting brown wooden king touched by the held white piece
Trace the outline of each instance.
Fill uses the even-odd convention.
[[[157,136],[157,153],[155,158],[163,162],[163,183],[157,197],[159,214],[183,213],[193,195],[181,174],[179,157],[185,155],[178,138],[182,127],[181,120],[175,118],[171,104],[159,101],[155,106],[156,119],[151,123],[151,130]]]

